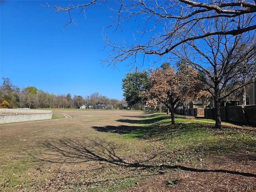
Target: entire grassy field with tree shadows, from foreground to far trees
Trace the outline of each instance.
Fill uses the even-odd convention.
[[[54,118],[0,126],[0,191],[256,191],[254,128],[124,110]]]

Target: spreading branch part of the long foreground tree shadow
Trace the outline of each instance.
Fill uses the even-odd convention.
[[[156,157],[156,155],[154,155],[139,162],[127,162],[116,154],[116,145],[101,139],[95,141],[88,138],[83,140],[63,138],[54,142],[46,141],[40,143],[38,147],[44,152],[40,154],[40,157],[34,156],[34,158],[52,163],[102,161],[118,166],[137,167],[139,164],[150,161]]]

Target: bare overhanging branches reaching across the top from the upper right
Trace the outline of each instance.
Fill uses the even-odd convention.
[[[106,1],[106,0],[105,0]],[[105,2],[104,1],[104,2]],[[169,1],[116,1],[119,8],[112,9],[116,12],[116,20],[110,27],[115,25],[114,31],[120,28],[122,23],[134,18],[140,20],[138,32],[142,33],[142,37],[147,39],[144,44],[135,42],[125,42],[116,44],[105,38],[106,48],[110,50],[108,59],[109,65],[115,65],[116,62],[122,62],[131,58],[136,63],[136,58],[145,55],[164,56],[170,54],[172,50],[178,48],[191,40],[199,40],[208,36],[216,35],[232,35],[236,36],[245,32],[256,30],[256,3],[255,0],[210,0],[209,2],[201,2],[196,0],[169,0]],[[86,7],[99,5],[97,0],[91,0],[87,4],[57,6],[43,5],[45,7],[54,8],[55,12],[68,12],[70,21],[65,28],[74,23],[71,11],[81,9],[84,12]],[[79,13],[80,13],[79,12]],[[241,24],[240,18],[246,18],[246,24]],[[225,30],[218,29],[215,31],[207,30],[215,24],[216,18],[226,18],[226,24],[229,26]],[[144,22],[141,22],[141,19]],[[154,23],[154,26],[149,25]],[[208,24],[208,26],[206,26]],[[198,30],[198,27],[205,25],[205,30]],[[153,36],[156,28],[162,28],[162,34]],[[148,34],[148,35],[147,35]]]

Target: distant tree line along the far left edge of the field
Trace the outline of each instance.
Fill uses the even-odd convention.
[[[34,86],[20,89],[14,85],[9,78],[2,78],[0,86],[1,108],[104,108],[123,109],[126,107],[124,100],[112,99],[102,96],[98,92],[90,96],[71,96],[68,94],[55,95]]]

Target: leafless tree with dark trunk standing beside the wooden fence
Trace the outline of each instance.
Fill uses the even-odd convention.
[[[243,20],[243,22],[248,21]],[[228,27],[226,19],[223,18],[216,18],[215,23],[214,28],[219,30]],[[205,26],[202,26],[202,30],[206,30]],[[204,83],[203,88],[212,94],[216,108],[215,126],[220,128],[220,102],[237,90],[255,82],[255,30],[235,36],[218,34],[200,40],[191,40],[173,53],[204,75],[201,79]]]

